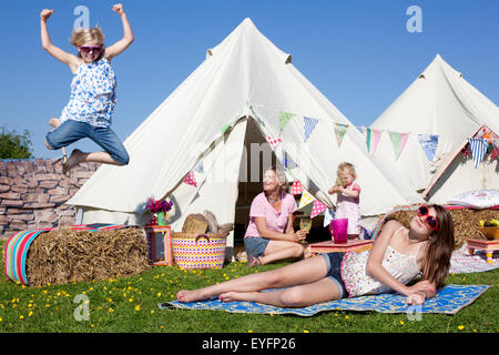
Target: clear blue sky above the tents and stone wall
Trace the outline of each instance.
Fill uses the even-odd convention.
[[[28,129],[37,158],[57,158],[43,141],[48,120],[59,116],[70,94],[71,72],[43,51],[39,14],[52,42],[74,52],[71,36],[78,6],[90,10],[106,44],[122,36],[106,0],[23,0],[0,13],[0,125]],[[131,134],[187,75],[207,48],[245,18],[285,52],[293,64],[355,125],[368,125],[431,62],[437,53],[485,95],[499,103],[499,1],[335,0],[124,0],[135,42],[113,60],[119,101],[113,130]],[[409,6],[422,12],[422,32],[410,33]],[[96,150],[85,140],[72,144]]]

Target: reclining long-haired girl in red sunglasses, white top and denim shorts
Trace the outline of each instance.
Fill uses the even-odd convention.
[[[180,302],[218,296],[222,302],[248,301],[281,307],[396,291],[408,304],[422,304],[444,286],[454,248],[450,213],[439,205],[421,206],[407,230],[388,221],[370,251],[325,253],[317,257],[227,282],[176,294]],[[422,272],[422,280],[407,284]],[[285,288],[259,292],[267,288]]]

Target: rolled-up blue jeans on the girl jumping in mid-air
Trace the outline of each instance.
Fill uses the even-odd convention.
[[[57,129],[47,133],[47,143],[58,150],[83,138],[90,138],[104,149],[111,158],[120,164],[126,165],[130,161],[129,153],[123,143],[109,126],[95,126],[86,122],[67,120]]]

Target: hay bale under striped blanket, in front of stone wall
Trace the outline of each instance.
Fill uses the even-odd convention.
[[[27,255],[32,286],[109,280],[140,274],[150,267],[143,229],[98,232],[57,229],[42,233]]]

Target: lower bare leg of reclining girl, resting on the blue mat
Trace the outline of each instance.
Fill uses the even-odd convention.
[[[338,300],[338,286],[328,277],[287,290],[272,292],[227,292],[220,295],[222,302],[257,302],[278,307],[306,307],[322,302]]]

